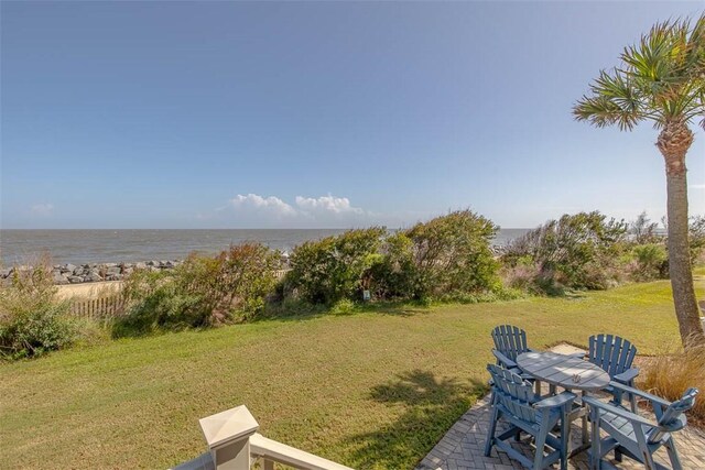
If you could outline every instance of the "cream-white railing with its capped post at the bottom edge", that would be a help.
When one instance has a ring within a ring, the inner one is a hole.
[[[199,420],[209,452],[173,470],[250,470],[261,460],[262,470],[282,463],[300,470],[352,470],[257,433],[259,424],[241,405]]]

